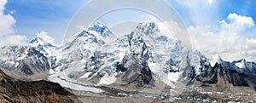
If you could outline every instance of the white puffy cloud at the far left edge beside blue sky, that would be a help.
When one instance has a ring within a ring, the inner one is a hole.
[[[7,0],[0,1],[0,47],[4,45],[24,44],[26,37],[15,35],[13,26],[15,18],[11,14],[4,14],[4,5]]]

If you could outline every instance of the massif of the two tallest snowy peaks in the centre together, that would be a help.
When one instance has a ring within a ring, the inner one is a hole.
[[[106,28],[97,23],[88,31],[82,31],[61,45],[59,50],[62,55],[57,63],[59,65],[52,68],[49,80],[61,79],[70,83],[93,85],[118,83],[143,86],[154,81],[154,77],[165,78],[161,79],[163,82],[169,81],[166,71],[170,70],[167,69],[176,67],[177,70],[178,65],[167,68],[167,64],[180,62],[180,43],[161,34],[154,22],[141,23],[130,34],[110,43],[104,42],[104,37],[109,35],[102,35],[104,32],[111,32]],[[166,63],[167,61],[169,62]]]

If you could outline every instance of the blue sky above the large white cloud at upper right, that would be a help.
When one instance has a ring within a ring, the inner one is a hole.
[[[180,0],[184,2],[188,2],[186,0]],[[254,7],[256,4],[256,1],[253,0],[212,0],[214,1],[212,4],[203,4],[204,0],[191,0],[193,1],[200,1],[195,2],[198,4],[191,3],[191,7],[194,8],[193,12],[200,12],[205,18],[209,18],[208,20],[211,20],[210,22],[204,22],[204,23],[216,23],[218,20],[225,20],[228,14],[230,13],[236,13],[241,14],[243,16],[250,16],[253,18],[253,20],[256,19],[256,8]],[[207,0],[206,0],[207,1]],[[190,3],[188,2],[188,3]],[[172,5],[174,9],[177,10],[179,14],[183,17],[184,20],[186,20],[186,23],[189,23],[187,25],[195,25],[193,22],[189,22],[189,6],[183,5],[183,3],[178,2],[178,0],[168,0],[168,3]],[[201,5],[203,4],[203,5]]]

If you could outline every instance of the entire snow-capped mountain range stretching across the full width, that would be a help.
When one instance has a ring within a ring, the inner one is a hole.
[[[94,88],[100,86],[152,89],[158,83],[173,89],[177,83],[256,89],[254,62],[228,62],[191,51],[163,34],[154,22],[140,23],[122,37],[96,23],[58,46],[40,37],[26,46],[5,46],[0,49],[0,67],[14,77],[47,78],[63,87],[95,93],[102,92]]]

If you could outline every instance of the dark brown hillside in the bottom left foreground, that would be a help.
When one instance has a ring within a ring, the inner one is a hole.
[[[27,103],[72,103],[79,102],[74,94],[63,89],[58,83],[45,80],[24,82],[9,77],[0,70],[0,102]]]

